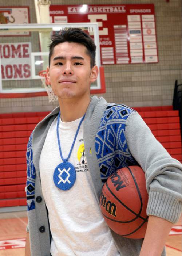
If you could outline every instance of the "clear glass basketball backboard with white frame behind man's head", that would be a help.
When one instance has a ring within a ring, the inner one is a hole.
[[[105,92],[104,71],[100,67],[99,30],[97,23],[0,25],[0,94],[45,92],[39,72],[48,66],[50,37],[62,28],[79,27],[89,34],[97,46],[98,79],[91,93]],[[40,94],[39,94],[40,95]],[[45,94],[46,95],[46,94]],[[2,98],[2,97],[1,97]]]

